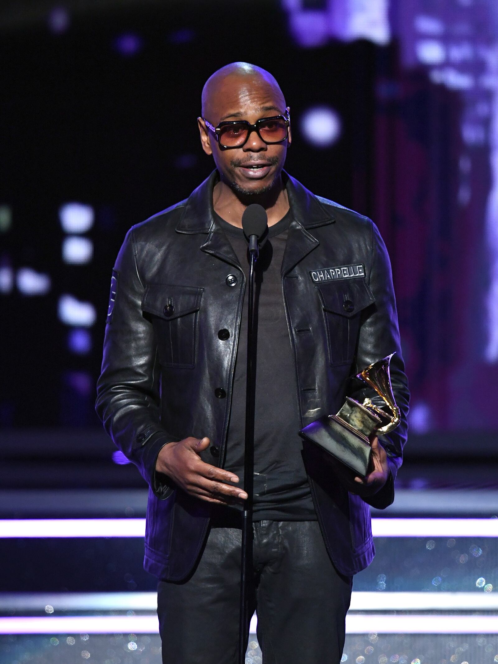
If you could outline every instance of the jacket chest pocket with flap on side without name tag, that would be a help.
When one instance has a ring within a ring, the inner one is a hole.
[[[149,284],[145,288],[142,311],[154,327],[163,367],[195,367],[203,290],[170,284]]]

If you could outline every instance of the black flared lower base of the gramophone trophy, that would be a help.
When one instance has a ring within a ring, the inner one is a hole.
[[[337,415],[325,415],[305,426],[299,434],[341,461],[359,477],[368,474],[372,451],[369,439]]]

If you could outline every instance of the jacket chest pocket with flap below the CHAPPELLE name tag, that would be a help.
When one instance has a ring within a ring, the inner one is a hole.
[[[331,365],[351,364],[355,357],[361,312],[375,298],[364,279],[345,279],[315,286],[323,308]]]

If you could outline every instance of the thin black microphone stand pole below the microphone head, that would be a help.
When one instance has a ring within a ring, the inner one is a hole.
[[[258,236],[249,238],[249,292],[246,376],[246,444],[244,450],[244,491],[247,499],[242,511],[242,564],[240,568],[240,627],[238,664],[246,661],[248,637],[248,599],[252,575],[252,505],[254,493],[254,398],[256,394],[256,319],[254,317],[254,268],[258,260]]]

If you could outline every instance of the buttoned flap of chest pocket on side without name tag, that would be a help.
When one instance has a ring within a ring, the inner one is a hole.
[[[149,284],[143,293],[142,309],[147,313],[153,313],[171,321],[187,313],[198,311],[203,290],[197,286]]]

